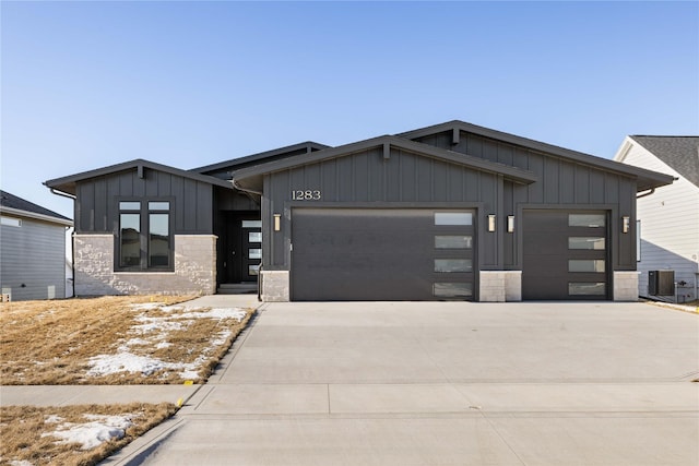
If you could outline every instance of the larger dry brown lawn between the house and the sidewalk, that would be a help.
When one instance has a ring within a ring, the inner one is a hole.
[[[203,382],[245,327],[242,321],[183,310],[191,297],[102,297],[0,304],[3,385]],[[163,306],[157,306],[161,302]],[[141,307],[134,304],[142,304]],[[95,369],[103,358],[121,371]],[[149,370],[129,366],[153,362]],[[114,361],[117,362],[114,362]]]

